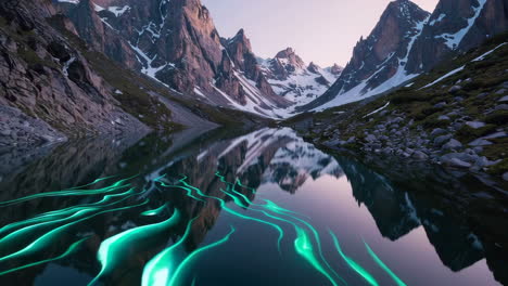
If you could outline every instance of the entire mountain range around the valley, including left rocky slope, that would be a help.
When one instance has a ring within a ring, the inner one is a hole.
[[[410,84],[507,30],[507,10],[441,0],[431,14],[396,0],[345,68],[321,68],[291,48],[259,58],[243,29],[220,37],[200,0],[5,0],[0,103],[16,110],[0,115],[41,119],[10,127],[40,131],[35,141],[288,118]]]

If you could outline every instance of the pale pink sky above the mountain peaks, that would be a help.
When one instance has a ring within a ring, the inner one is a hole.
[[[306,63],[344,66],[391,0],[202,0],[221,37],[244,28],[254,52],[272,57],[292,47]],[[414,0],[432,12],[437,0]]]

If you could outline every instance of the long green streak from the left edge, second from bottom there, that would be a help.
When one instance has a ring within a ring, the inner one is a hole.
[[[72,226],[72,225],[75,225],[79,222],[82,222],[85,220],[88,220],[88,219],[91,219],[91,218],[94,218],[99,214],[102,214],[102,213],[106,213],[106,212],[113,212],[113,211],[118,211],[118,210],[126,210],[126,209],[130,209],[130,208],[136,208],[136,207],[140,207],[140,206],[144,206],[149,203],[149,200],[144,200],[143,203],[141,204],[138,204],[138,205],[132,205],[132,206],[127,206],[127,207],[122,207],[122,208],[115,208],[115,209],[109,209],[109,210],[103,210],[103,211],[99,211],[97,213],[93,213],[91,216],[88,216],[88,217],[85,217],[85,218],[81,218],[81,219],[78,219],[76,221],[73,221],[73,222],[69,222],[67,224],[64,224],[62,226],[59,226],[46,234],[43,234],[42,236],[40,236],[39,238],[37,238],[36,240],[34,240],[31,244],[29,244],[28,246],[26,246],[25,248],[14,252],[14,253],[11,253],[9,256],[5,256],[5,257],[2,257],[0,258],[0,262],[2,261],[5,261],[5,260],[9,260],[9,259],[13,259],[13,258],[18,258],[18,257],[22,257],[22,256],[26,256],[26,255],[30,255],[30,253],[34,253],[34,252],[37,252],[37,251],[40,251],[40,250],[43,250],[47,246],[51,245],[51,242],[54,240],[60,234],[62,234],[67,227]],[[85,212],[89,212],[87,210],[85,210]]]

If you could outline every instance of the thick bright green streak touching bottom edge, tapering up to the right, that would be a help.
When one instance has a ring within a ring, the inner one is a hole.
[[[198,218],[189,221],[186,232],[181,238],[170,247],[161,251],[152,258],[143,269],[141,277],[142,286],[167,286],[169,283],[170,273],[178,268],[178,247],[183,244],[190,234],[192,223]]]

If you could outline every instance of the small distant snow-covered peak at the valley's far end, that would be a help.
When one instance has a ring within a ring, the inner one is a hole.
[[[325,93],[342,73],[336,64],[328,68],[313,62],[306,65],[292,48],[278,52],[274,58],[259,60],[259,64],[275,92],[294,103],[292,108]]]

